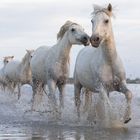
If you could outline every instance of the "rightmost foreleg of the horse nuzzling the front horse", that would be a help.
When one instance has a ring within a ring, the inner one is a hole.
[[[59,101],[60,101],[60,107],[64,108],[64,88],[65,85],[64,84],[59,84],[58,85],[58,89],[59,89]]]

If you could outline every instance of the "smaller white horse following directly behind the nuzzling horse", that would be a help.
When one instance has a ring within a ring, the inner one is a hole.
[[[20,98],[20,86],[23,84],[31,84],[32,75],[30,68],[30,60],[33,56],[34,50],[26,50],[27,53],[22,61],[11,61],[4,69],[4,74],[9,84],[13,86],[13,90],[18,87],[18,99]],[[12,91],[13,92],[13,91]]]

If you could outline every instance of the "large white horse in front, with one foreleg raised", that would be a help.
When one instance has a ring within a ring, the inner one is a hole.
[[[90,41],[96,49],[86,47],[79,52],[74,72],[75,104],[78,116],[80,117],[81,88],[86,87],[90,91],[96,92],[103,84],[107,93],[118,91],[125,95],[127,109],[124,123],[127,123],[131,120],[132,93],[127,88],[125,70],[115,47],[111,25],[111,4],[107,8],[95,5],[92,16]]]

